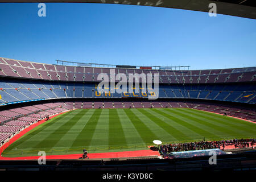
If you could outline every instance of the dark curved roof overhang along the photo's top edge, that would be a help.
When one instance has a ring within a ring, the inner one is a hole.
[[[169,7],[193,11],[209,12],[210,3],[216,3],[217,14],[240,16],[256,19],[255,0],[0,0],[0,2],[87,2],[87,3],[113,3],[124,5],[140,5]]]

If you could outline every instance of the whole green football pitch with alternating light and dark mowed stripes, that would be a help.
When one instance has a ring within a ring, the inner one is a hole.
[[[181,108],[77,109],[35,127],[2,156],[145,150],[163,143],[255,138],[256,125],[241,119]]]

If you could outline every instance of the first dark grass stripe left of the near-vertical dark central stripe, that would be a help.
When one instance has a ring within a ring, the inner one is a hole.
[[[94,131],[96,129],[98,119],[100,118],[102,109],[95,109],[92,117],[86,123],[80,134],[76,137],[72,147],[90,146]]]

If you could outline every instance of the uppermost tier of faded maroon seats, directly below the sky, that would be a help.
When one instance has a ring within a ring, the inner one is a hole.
[[[0,76],[35,78],[55,81],[99,81],[100,73],[110,74],[110,68],[71,67],[0,57]],[[218,82],[245,82],[256,80],[256,68],[212,69],[193,71],[163,71],[153,69],[114,68],[115,73],[159,73],[160,83],[197,84]],[[1,88],[1,86],[0,86]]]

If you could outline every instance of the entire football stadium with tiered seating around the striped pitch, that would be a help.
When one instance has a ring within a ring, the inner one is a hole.
[[[158,64],[0,57],[0,168],[39,169],[43,154],[49,169],[216,169],[215,152],[218,168],[255,169],[256,67]]]

